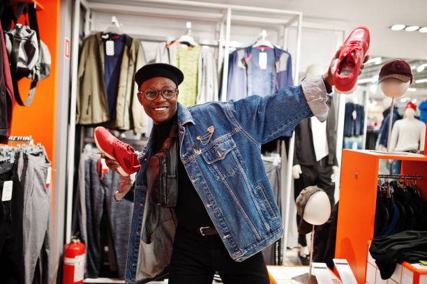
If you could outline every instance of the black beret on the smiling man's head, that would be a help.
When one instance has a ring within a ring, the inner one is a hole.
[[[153,77],[166,77],[174,81],[177,87],[183,81],[183,73],[177,67],[167,63],[149,63],[137,70],[135,73],[135,82],[138,88],[142,82]]]

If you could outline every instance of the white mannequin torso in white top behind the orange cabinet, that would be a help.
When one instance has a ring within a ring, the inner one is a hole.
[[[424,150],[426,124],[415,118],[412,107],[407,107],[404,117],[391,130],[390,151]]]

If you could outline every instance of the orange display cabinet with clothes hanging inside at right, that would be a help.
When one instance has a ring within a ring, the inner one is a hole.
[[[401,174],[420,176],[417,186],[427,200],[427,156],[343,150],[335,257],[347,259],[359,284],[365,283],[366,244],[373,239],[380,159],[402,160]]]

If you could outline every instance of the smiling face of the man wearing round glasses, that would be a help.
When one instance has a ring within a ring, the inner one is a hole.
[[[154,87],[160,91],[165,86],[177,88],[174,81],[169,78],[153,77],[142,82],[140,91],[145,91],[149,87]],[[163,98],[159,93],[155,100],[148,100],[143,94],[138,93],[138,100],[140,100],[142,107],[144,107],[145,113],[153,119],[153,124],[163,124],[174,117],[178,108],[177,98],[178,93],[169,100]]]

